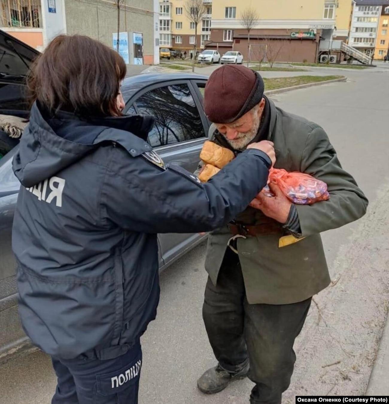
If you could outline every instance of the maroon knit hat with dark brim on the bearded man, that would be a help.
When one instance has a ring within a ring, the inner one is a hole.
[[[236,121],[259,104],[264,90],[262,77],[248,67],[219,67],[205,86],[205,114],[211,122],[219,124]]]

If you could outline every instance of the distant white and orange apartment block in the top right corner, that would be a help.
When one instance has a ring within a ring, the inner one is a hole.
[[[383,59],[388,49],[389,0],[355,0],[349,45]]]

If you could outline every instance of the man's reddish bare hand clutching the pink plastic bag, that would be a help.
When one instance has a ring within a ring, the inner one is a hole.
[[[282,224],[285,224],[288,220],[290,206],[292,202],[281,191],[278,185],[269,183],[271,192],[274,197],[266,196],[262,190],[255,199],[250,202],[250,206],[253,208],[262,210],[263,214],[267,217],[271,217]]]

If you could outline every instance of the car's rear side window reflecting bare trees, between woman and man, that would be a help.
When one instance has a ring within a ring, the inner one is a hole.
[[[140,114],[155,117],[149,133],[153,147],[205,137],[200,113],[187,84],[151,90],[136,100]]]

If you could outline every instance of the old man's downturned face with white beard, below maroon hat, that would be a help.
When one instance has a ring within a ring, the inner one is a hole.
[[[249,112],[230,124],[216,124],[219,132],[235,150],[244,149],[257,135],[265,99]]]

